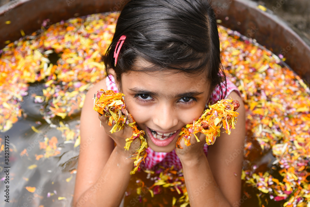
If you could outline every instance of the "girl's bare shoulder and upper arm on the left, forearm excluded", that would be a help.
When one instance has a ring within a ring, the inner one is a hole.
[[[81,112],[81,143],[73,203],[96,182],[114,148],[113,139],[105,133],[98,113],[93,110],[94,94],[100,89],[107,90],[105,78],[88,90]]]

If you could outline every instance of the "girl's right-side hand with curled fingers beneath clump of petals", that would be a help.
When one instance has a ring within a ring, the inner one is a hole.
[[[180,161],[188,161],[193,159],[199,159],[201,155],[204,155],[203,145],[206,144],[206,135],[202,133],[197,133],[196,136],[200,140],[197,142],[197,139],[194,134],[190,138],[191,145],[186,146],[184,139],[180,141],[180,145],[183,149],[175,148],[175,153],[179,156]]]

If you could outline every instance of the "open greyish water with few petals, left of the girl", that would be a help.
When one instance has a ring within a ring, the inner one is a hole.
[[[29,87],[30,90],[31,86]],[[25,100],[27,100],[26,97]],[[27,117],[20,118],[13,128],[7,132],[0,133],[2,139],[9,136],[11,150],[10,164],[8,165],[11,166],[9,175],[10,203],[1,199],[1,206],[37,207],[43,205],[56,207],[72,205],[79,146],[74,147],[74,142],[64,143],[61,131],[52,128],[42,119],[39,112],[40,106],[41,104],[34,103],[31,98],[25,101],[22,108]],[[60,121],[63,121],[74,129],[79,125],[79,115],[79,113],[73,115],[72,119],[55,119],[53,123],[58,125]],[[41,121],[42,125],[36,124],[37,121]],[[35,126],[40,133],[34,132],[31,126]],[[44,142],[46,138],[54,136],[59,140],[57,148],[60,154],[36,160],[36,155],[45,152],[44,149],[40,149],[39,142]],[[28,156],[20,154],[24,149],[26,149]],[[3,154],[1,152],[1,166],[4,164]],[[37,167],[29,169],[29,166],[34,165]],[[4,172],[2,171],[0,177],[3,176]],[[29,192],[26,187],[36,187],[36,189],[34,192]],[[4,189],[5,185],[1,182],[1,194]],[[59,197],[65,197],[65,199],[59,200]]]

